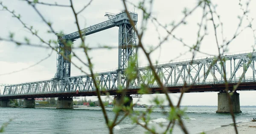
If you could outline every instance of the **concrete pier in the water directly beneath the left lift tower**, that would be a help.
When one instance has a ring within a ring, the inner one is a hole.
[[[57,109],[72,109],[73,99],[72,97],[59,97],[57,100]]]

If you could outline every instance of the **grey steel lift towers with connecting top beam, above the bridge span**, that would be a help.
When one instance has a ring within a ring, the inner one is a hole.
[[[128,13],[136,25],[138,14],[134,12]],[[115,26],[119,27],[117,83],[118,85],[122,85],[125,83],[125,73],[123,71],[129,66],[129,61],[132,57],[135,57],[135,54],[137,53],[136,33],[125,11],[117,14],[106,12],[105,16],[108,17],[107,21],[82,29],[81,35],[87,36]],[[74,42],[79,38],[81,38],[79,31],[58,36],[59,50],[57,53],[57,73],[55,74],[55,78],[61,80],[62,83],[65,82],[65,78],[70,77],[70,61],[67,59],[70,57],[71,47],[67,46],[67,44],[70,43],[64,42]],[[137,65],[136,60],[136,66]]]

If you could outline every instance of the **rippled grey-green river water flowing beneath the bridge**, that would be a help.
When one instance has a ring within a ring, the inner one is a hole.
[[[110,119],[115,116],[112,108],[107,108]],[[232,123],[230,114],[215,113],[217,107],[189,107],[183,121],[189,133],[196,134]],[[166,109],[168,110],[168,109]],[[145,111],[145,108],[134,108],[134,111]],[[242,113],[235,114],[236,122],[248,122],[256,117],[256,108],[243,108]],[[123,115],[124,113],[121,113]],[[3,134],[108,134],[105,119],[100,108],[81,107],[74,109],[55,108],[0,108],[0,124],[12,119]],[[154,109],[151,114],[151,126],[157,131],[167,125],[167,117],[161,109]],[[144,134],[145,129],[132,124],[129,118],[114,128],[115,134]],[[175,126],[173,134],[183,134]]]

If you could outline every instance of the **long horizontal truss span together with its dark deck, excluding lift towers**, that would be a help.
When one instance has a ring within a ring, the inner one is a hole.
[[[223,56],[223,68],[220,60],[216,58],[195,59],[193,61],[180,61],[168,64],[155,65],[155,71],[169,92],[180,92],[180,88],[186,83],[191,86],[188,92],[221,91],[225,89],[223,70],[226,70],[228,87],[233,89],[242,73],[241,84],[238,90],[256,89],[256,53],[244,53]],[[216,61],[216,62],[215,62]],[[214,63],[214,64],[213,64]],[[122,70],[125,72],[125,70]],[[246,76],[249,77],[246,77]],[[96,79],[100,85],[102,94],[109,92],[111,95],[118,94],[118,70],[97,73]],[[64,83],[63,83],[64,82]],[[157,81],[152,76],[149,67],[138,67],[137,78],[126,87],[126,79],[122,81],[122,87],[128,89],[128,94],[137,94],[141,85],[145,84],[151,89],[151,93],[161,93]],[[78,92],[76,92],[78,90]],[[60,96],[94,96],[96,95],[92,77],[79,75],[64,79],[49,79],[23,84],[5,86],[0,98],[31,98],[36,97],[60,97]]]

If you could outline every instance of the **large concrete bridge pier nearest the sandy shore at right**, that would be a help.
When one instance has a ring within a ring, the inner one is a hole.
[[[234,92],[231,96],[231,101],[233,102],[233,112],[241,113],[239,93]],[[229,101],[226,92],[218,93],[218,110],[216,113],[230,113]]]

